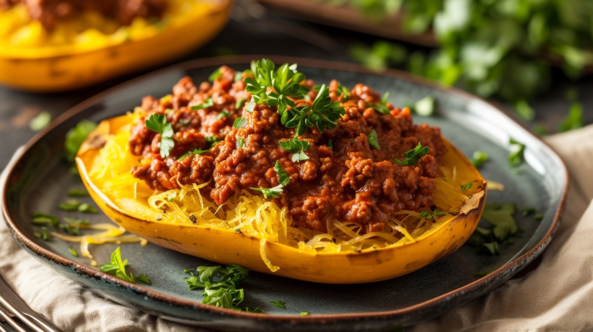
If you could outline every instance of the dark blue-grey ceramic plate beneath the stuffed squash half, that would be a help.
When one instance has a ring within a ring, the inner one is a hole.
[[[250,273],[244,283],[245,304],[259,307],[267,314],[248,314],[203,305],[199,291],[187,289],[183,269],[213,264],[199,258],[149,244],[122,244],[122,256],[129,258],[136,273],[151,277],[152,285],[133,285],[92,267],[87,258],[73,257],[71,244],[54,239],[42,241],[33,236],[31,212],[43,211],[59,216],[56,205],[66,198],[66,191],[82,188],[81,181],[68,172],[60,157],[66,131],[82,119],[100,121],[130,111],[145,95],[162,96],[184,75],[205,81],[220,65],[248,68],[255,56],[215,58],[181,63],[133,79],[103,92],[66,111],[52,126],[27,144],[23,154],[15,156],[4,186],[2,209],[9,229],[31,255],[75,279],[98,295],[154,313],[174,321],[203,325],[222,330],[385,330],[412,325],[441,315],[449,309],[483,295],[527,266],[544,250],[557,228],[568,183],[560,158],[540,139],[515,123],[502,111],[473,95],[445,89],[396,71],[373,74],[356,65],[308,59],[272,57],[276,63],[298,63],[300,71],[316,82],[339,79],[352,87],[358,82],[377,91],[391,92],[396,106],[413,103],[432,95],[438,114],[419,117],[416,122],[440,126],[442,133],[466,155],[480,150],[490,160],[480,171],[487,180],[497,181],[505,191],[488,193],[488,202],[511,202],[534,207],[543,214],[541,221],[516,214],[524,231],[498,256],[484,256],[464,245],[460,250],[423,269],[384,282],[362,285],[321,285],[262,273]],[[525,143],[525,163],[517,174],[507,161],[509,138]],[[90,197],[81,200],[94,204]],[[106,222],[102,213],[84,215],[91,223]],[[91,253],[99,263],[107,263],[115,244],[93,245]],[[493,271],[482,279],[477,272]],[[286,301],[286,309],[270,301]],[[300,316],[301,311],[310,315]]]

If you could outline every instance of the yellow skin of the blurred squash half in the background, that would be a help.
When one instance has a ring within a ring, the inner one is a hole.
[[[35,92],[68,91],[148,68],[207,43],[227,23],[231,7],[232,1],[224,0],[154,36],[95,50],[0,50],[0,83]]]

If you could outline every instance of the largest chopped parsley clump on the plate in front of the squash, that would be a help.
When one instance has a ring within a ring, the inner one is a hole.
[[[184,270],[191,277],[184,278],[190,290],[203,289],[202,295],[205,298],[203,304],[215,305],[228,309],[238,309],[243,302],[243,289],[237,289],[237,286],[245,280],[248,269],[231,264],[226,267],[221,266],[198,266],[196,273],[192,270]],[[245,309],[248,312],[262,312],[258,308]]]

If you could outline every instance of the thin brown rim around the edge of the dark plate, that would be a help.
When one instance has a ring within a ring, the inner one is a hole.
[[[439,90],[441,92],[445,92],[446,94],[454,94],[458,95],[465,99],[470,100],[477,100],[488,106],[492,107],[493,109],[497,110],[503,117],[506,117],[507,120],[521,126],[524,130],[526,130],[532,138],[542,143],[549,149],[551,157],[554,157],[559,162],[561,166],[560,172],[564,175],[563,180],[565,181],[564,186],[562,188],[562,194],[559,197],[559,206],[556,209],[556,213],[553,217],[552,224],[550,228],[547,230],[546,235],[537,243],[535,244],[530,250],[526,251],[521,256],[515,258],[514,260],[506,263],[505,265],[499,267],[492,273],[489,273],[487,276],[484,276],[480,279],[477,279],[471,283],[467,283],[460,288],[451,290],[447,293],[443,293],[439,296],[435,296],[434,298],[428,299],[426,301],[420,302],[418,304],[410,305],[409,307],[388,310],[388,311],[378,311],[378,312],[350,312],[350,313],[340,313],[340,314],[313,314],[313,315],[287,315],[287,314],[270,314],[270,315],[262,315],[262,314],[254,314],[250,312],[242,312],[233,309],[227,308],[220,308],[215,307],[213,305],[202,304],[199,301],[192,301],[189,299],[181,299],[177,298],[173,295],[168,295],[165,293],[158,292],[156,290],[147,288],[145,286],[137,285],[134,283],[127,282],[125,280],[119,279],[115,276],[111,276],[111,274],[100,272],[100,270],[90,267],[76,261],[70,260],[67,257],[60,256],[53,251],[50,251],[42,246],[36,244],[33,240],[28,238],[20,231],[17,226],[17,223],[12,220],[12,217],[8,213],[8,202],[7,202],[7,194],[8,194],[8,183],[9,179],[14,177],[15,170],[17,165],[19,165],[23,159],[23,157],[27,154],[27,152],[39,141],[42,141],[44,136],[47,133],[51,132],[55,127],[60,125],[61,123],[65,122],[66,120],[70,119],[71,117],[75,116],[76,114],[81,113],[89,106],[97,103],[100,100],[104,100],[105,97],[108,97],[113,92],[118,90],[122,90],[122,88],[130,87],[133,85],[141,84],[142,81],[146,81],[155,76],[159,76],[164,74],[165,72],[175,71],[175,70],[190,70],[196,68],[203,68],[207,66],[221,66],[221,65],[232,65],[232,64],[246,64],[250,63],[253,59],[262,59],[267,58],[271,59],[274,62],[280,63],[298,63],[298,65],[310,68],[318,68],[318,69],[330,69],[334,71],[345,71],[345,72],[353,72],[355,74],[371,74],[371,75],[380,75],[386,76],[388,78],[396,78],[401,79],[403,81],[412,82],[418,85],[423,85],[428,88],[432,88],[434,90]],[[18,155],[17,155],[18,154]],[[2,184],[1,189],[1,207],[2,207],[2,215],[4,216],[5,223],[8,226],[9,231],[11,231],[15,240],[20,242],[21,245],[27,247],[29,250],[33,251],[37,255],[48,258],[53,263],[57,263],[62,266],[72,267],[78,270],[81,273],[86,274],[87,277],[91,277],[93,279],[107,279],[110,282],[119,284],[125,288],[131,289],[136,293],[139,293],[144,296],[149,296],[150,298],[154,299],[158,302],[164,302],[166,304],[173,304],[179,305],[182,307],[190,307],[193,309],[197,309],[198,311],[207,312],[209,314],[217,314],[217,315],[225,315],[228,317],[238,318],[238,319],[248,319],[248,320],[256,320],[256,321],[269,321],[270,323],[334,323],[338,321],[349,321],[349,320],[369,320],[369,319],[380,319],[380,320],[388,320],[398,317],[403,317],[405,315],[411,314],[412,312],[416,311],[423,311],[428,310],[431,308],[439,307],[439,305],[444,304],[445,302],[452,301],[453,299],[457,298],[458,296],[463,295],[464,293],[476,292],[480,288],[486,288],[486,286],[492,282],[493,280],[499,279],[500,276],[503,276],[505,273],[509,272],[512,274],[517,273],[519,270],[516,269],[519,263],[523,261],[533,261],[537,256],[539,256],[543,249],[549,244],[551,238],[553,237],[554,233],[558,229],[560,217],[562,216],[563,210],[565,208],[566,202],[566,194],[568,193],[568,184],[569,184],[569,175],[568,170],[566,168],[565,163],[563,162],[562,158],[557,155],[556,151],[554,151],[548,143],[543,141],[540,137],[535,135],[531,129],[527,126],[523,125],[522,123],[517,122],[517,120],[513,119],[509,114],[502,109],[502,107],[498,106],[495,103],[490,101],[484,100],[483,98],[477,97],[476,95],[471,94],[470,92],[466,92],[454,87],[445,87],[444,85],[438,84],[436,82],[428,81],[427,79],[421,78],[419,76],[410,74],[408,72],[399,71],[397,69],[386,69],[384,72],[374,72],[369,69],[362,67],[361,65],[357,65],[356,63],[349,63],[349,62],[339,62],[339,61],[332,61],[332,60],[322,60],[322,59],[313,59],[313,58],[299,58],[299,57],[292,57],[292,56],[275,56],[275,55],[237,55],[237,56],[216,56],[211,58],[201,58],[201,59],[194,59],[194,60],[187,60],[184,62],[175,63],[170,66],[166,66],[161,69],[157,69],[155,71],[148,72],[147,74],[138,76],[136,78],[132,78],[128,81],[122,82],[120,84],[114,85],[114,87],[108,88],[98,94],[93,95],[90,98],[87,98],[81,103],[76,104],[75,106],[69,108],[60,116],[56,117],[55,120],[50,123],[42,131],[38,132],[33,138],[30,139],[24,146],[21,151],[15,153],[12,157],[14,162],[10,162],[7,165],[7,177],[4,184]],[[25,250],[26,251],[26,250]],[[525,264],[526,267],[527,264]],[[502,285],[502,283],[508,281],[508,279],[504,279],[503,282],[497,283],[496,286]],[[471,300],[470,300],[471,301]],[[468,302],[468,301],[466,301]],[[463,302],[463,303],[466,303]],[[140,311],[146,312],[145,309],[139,307],[138,305],[134,306],[136,309]],[[161,312],[162,314],[170,315],[165,312]],[[443,314],[444,312],[439,312]],[[196,320],[196,322],[199,322]]]

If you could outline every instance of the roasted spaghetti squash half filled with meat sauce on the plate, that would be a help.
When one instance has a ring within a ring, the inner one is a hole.
[[[281,69],[269,75],[282,78]],[[346,97],[335,81],[317,88],[292,76],[310,97],[289,96],[289,116],[308,117],[323,98],[337,113],[344,108],[335,125],[320,130],[313,118],[299,135],[279,115],[282,106],[256,102],[248,88],[261,76],[256,65],[218,71],[212,85],[184,78],[173,95],[145,98],[133,113],[104,120],[81,146],[76,165],[85,186],[127,231],[222,264],[362,283],[445,257],[476,228],[486,181],[438,129],[412,125],[407,108],[377,101],[362,85]],[[263,98],[276,91],[283,87]],[[398,127],[380,127],[391,117]],[[151,123],[157,118],[160,133]]]

